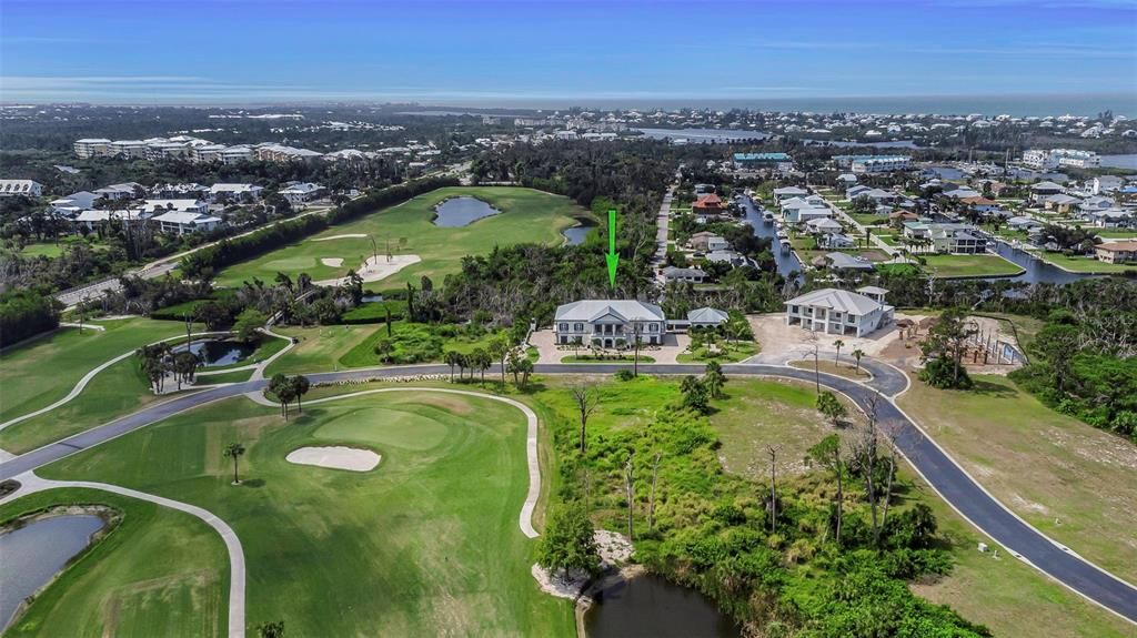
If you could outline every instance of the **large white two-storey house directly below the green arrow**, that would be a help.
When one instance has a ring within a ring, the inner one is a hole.
[[[599,347],[659,345],[667,320],[658,305],[634,300],[582,300],[557,307],[553,330],[556,343]],[[579,339],[579,341],[578,341]]]

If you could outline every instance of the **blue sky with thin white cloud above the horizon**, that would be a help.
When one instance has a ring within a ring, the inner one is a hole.
[[[0,100],[1137,94],[1137,0],[2,0]]]

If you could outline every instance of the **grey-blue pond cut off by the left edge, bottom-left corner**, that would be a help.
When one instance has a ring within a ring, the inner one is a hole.
[[[0,622],[7,627],[19,604],[43,587],[102,529],[93,514],[66,514],[0,534]]]

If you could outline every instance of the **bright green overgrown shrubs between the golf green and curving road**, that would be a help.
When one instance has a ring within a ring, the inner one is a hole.
[[[832,436],[811,451],[814,471],[754,482],[723,470],[716,434],[700,413],[704,401],[715,408],[709,388],[729,397],[730,383],[713,375],[689,377],[680,392],[641,388],[637,396],[648,398],[617,410],[649,420],[594,420],[587,446],[576,402],[550,410],[558,500],[583,503],[604,527],[630,534],[648,570],[699,589],[747,635],[990,635],[908,590],[906,581],[946,573],[951,561],[931,511],[901,505],[896,494],[906,487],[895,452],[871,419],[855,443]]]

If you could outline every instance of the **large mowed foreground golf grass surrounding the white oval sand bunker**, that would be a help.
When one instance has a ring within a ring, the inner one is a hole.
[[[238,487],[222,455],[233,440],[248,448]],[[358,473],[284,460],[306,445],[367,447],[382,462]],[[297,636],[574,636],[572,604],[529,572],[534,543],[517,524],[525,419],[498,402],[384,393],[309,404],[284,422],[233,400],[42,473],[160,494],[229,522],[248,563],[250,631],[283,620]]]

